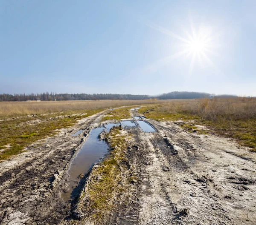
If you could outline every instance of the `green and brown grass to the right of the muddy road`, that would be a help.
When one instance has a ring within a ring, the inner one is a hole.
[[[158,121],[186,121],[180,126],[188,132],[196,130],[199,134],[207,134],[195,126],[203,125],[256,151],[256,99],[175,100],[143,107],[139,112]]]

